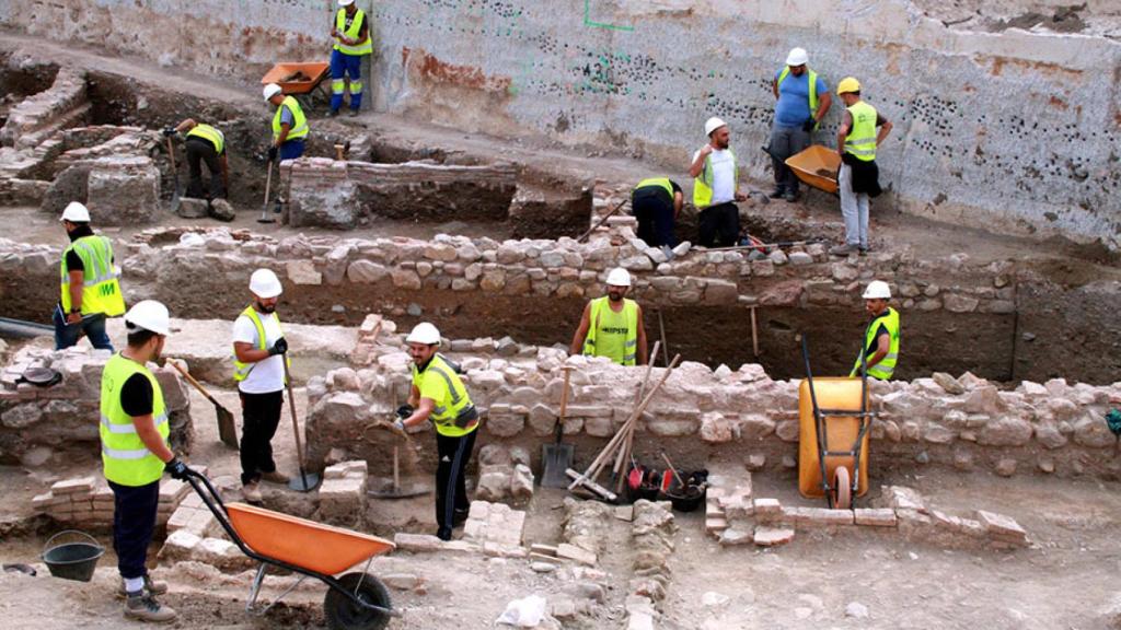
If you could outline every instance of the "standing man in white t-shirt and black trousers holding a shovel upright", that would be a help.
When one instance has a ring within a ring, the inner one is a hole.
[[[288,342],[276,313],[284,293],[277,275],[271,269],[253,271],[249,293],[252,303],[233,323],[233,380],[243,417],[241,493],[247,501],[259,503],[262,480],[288,483],[288,476],[277,471],[272,458],[272,436],[284,408]]]

